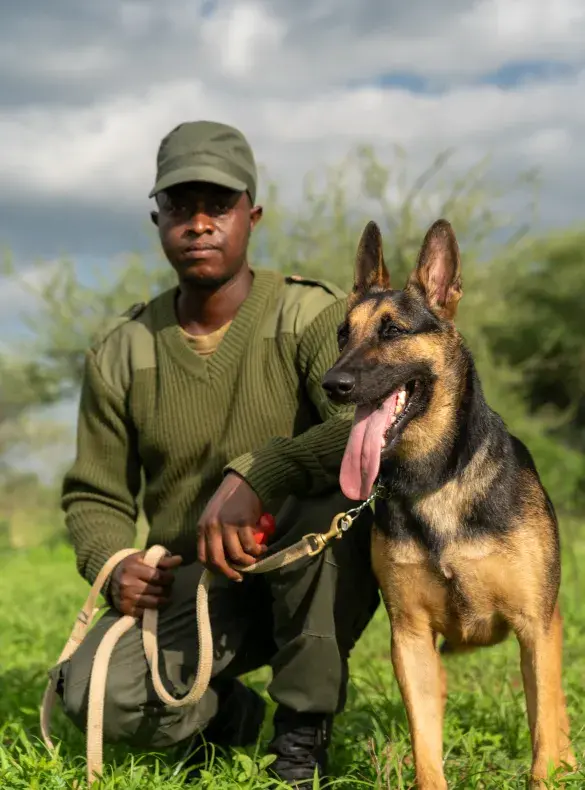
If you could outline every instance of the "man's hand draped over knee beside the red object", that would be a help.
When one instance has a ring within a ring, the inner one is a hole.
[[[248,483],[233,472],[207,503],[198,524],[197,555],[211,571],[242,581],[242,574],[230,563],[254,565],[266,551],[254,539],[254,529],[262,515],[262,503]]]

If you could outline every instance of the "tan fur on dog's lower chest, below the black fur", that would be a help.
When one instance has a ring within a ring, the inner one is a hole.
[[[523,627],[526,612],[542,610],[545,558],[529,530],[518,530],[524,534],[512,540],[453,541],[438,558],[414,539],[375,531],[372,562],[391,620],[430,623],[453,643],[469,645],[495,644],[507,626]]]

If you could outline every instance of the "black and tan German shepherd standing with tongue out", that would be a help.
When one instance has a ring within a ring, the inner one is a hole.
[[[462,296],[451,225],[435,222],[403,290],[393,290],[378,226],[366,226],[323,387],[356,405],[340,471],[350,499],[380,478],[372,563],[390,617],[392,664],[419,790],[445,790],[442,729],[450,652],[513,631],[532,740],[532,786],[575,765],[561,683],[559,532],[528,449],[487,405],[454,326]]]

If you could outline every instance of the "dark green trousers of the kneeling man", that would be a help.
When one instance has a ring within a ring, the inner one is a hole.
[[[307,532],[325,532],[333,517],[354,506],[339,492],[286,501],[277,516],[277,546]],[[209,591],[214,662],[212,681],[195,706],[169,708],[152,687],[140,629],[116,646],[109,668],[104,737],[143,748],[166,748],[201,731],[217,713],[216,679],[272,667],[268,692],[297,711],[337,713],[343,709],[348,657],[379,602],[370,565],[372,512],[366,508],[341,540],[316,558],[235,583],[216,577]],[[282,537],[280,537],[282,536]],[[183,695],[197,667],[195,593],[199,563],[176,571],[171,604],[159,616],[160,671],[169,691]],[[94,655],[120,617],[105,612],[69,661],[52,672],[68,717],[85,728]]]

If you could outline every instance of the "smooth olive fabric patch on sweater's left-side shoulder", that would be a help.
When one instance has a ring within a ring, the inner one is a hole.
[[[92,343],[96,362],[108,386],[125,395],[137,370],[154,368],[154,333],[150,311],[138,302],[107,321]]]

